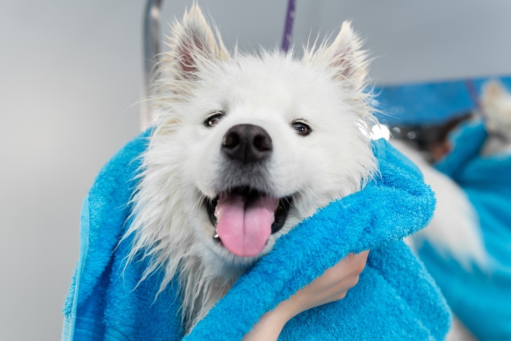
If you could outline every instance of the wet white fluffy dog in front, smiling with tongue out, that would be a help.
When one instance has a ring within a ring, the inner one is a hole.
[[[234,49],[193,5],[161,55],[128,261],[178,274],[189,332],[275,240],[377,172],[367,56],[350,22],[293,52]]]

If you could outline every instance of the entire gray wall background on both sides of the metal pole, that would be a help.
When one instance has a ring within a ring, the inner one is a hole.
[[[199,3],[228,47],[280,43],[285,0]],[[184,7],[169,0],[164,19]],[[139,130],[143,8],[142,0],[0,2],[2,340],[60,337],[82,198]],[[380,84],[511,74],[511,2],[298,0],[294,42],[344,19],[366,38]]]

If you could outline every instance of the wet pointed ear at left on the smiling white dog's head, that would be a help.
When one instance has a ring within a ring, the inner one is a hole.
[[[218,30],[216,35],[218,44],[199,6],[193,4],[190,11],[185,11],[182,21],[172,26],[172,36],[167,43],[170,52],[164,55],[162,63],[170,64],[177,78],[195,79],[204,61],[229,58]]]

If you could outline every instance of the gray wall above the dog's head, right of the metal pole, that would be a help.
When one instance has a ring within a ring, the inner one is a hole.
[[[168,1],[165,16],[182,15],[184,3]],[[245,49],[280,45],[286,0],[205,3],[227,47],[237,38]],[[296,9],[298,47],[309,34],[323,38],[352,20],[381,84],[511,74],[511,2],[297,0]]]

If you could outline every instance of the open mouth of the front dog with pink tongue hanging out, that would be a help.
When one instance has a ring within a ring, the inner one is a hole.
[[[214,239],[237,256],[257,256],[269,236],[284,226],[291,201],[290,196],[276,198],[249,187],[220,193],[206,202]]]

